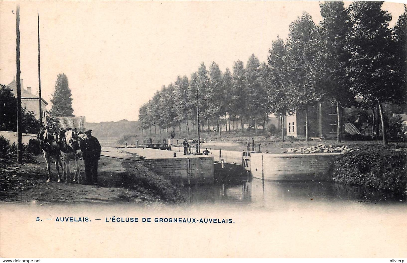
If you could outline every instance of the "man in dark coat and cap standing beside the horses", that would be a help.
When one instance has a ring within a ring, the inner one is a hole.
[[[92,130],[85,131],[87,139],[82,142],[82,157],[85,161],[85,174],[87,184],[98,183],[98,160],[101,156],[101,145],[98,139],[92,136]]]

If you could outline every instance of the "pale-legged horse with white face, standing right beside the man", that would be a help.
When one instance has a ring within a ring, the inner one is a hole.
[[[66,128],[59,131],[59,150],[61,151],[63,159],[63,177],[65,182],[68,182],[70,177],[69,163],[73,159],[75,161],[75,175],[73,182],[81,183],[83,181],[81,172],[79,170],[79,157],[81,156],[80,142],[84,136],[78,136],[78,134],[72,130],[72,128]]]

